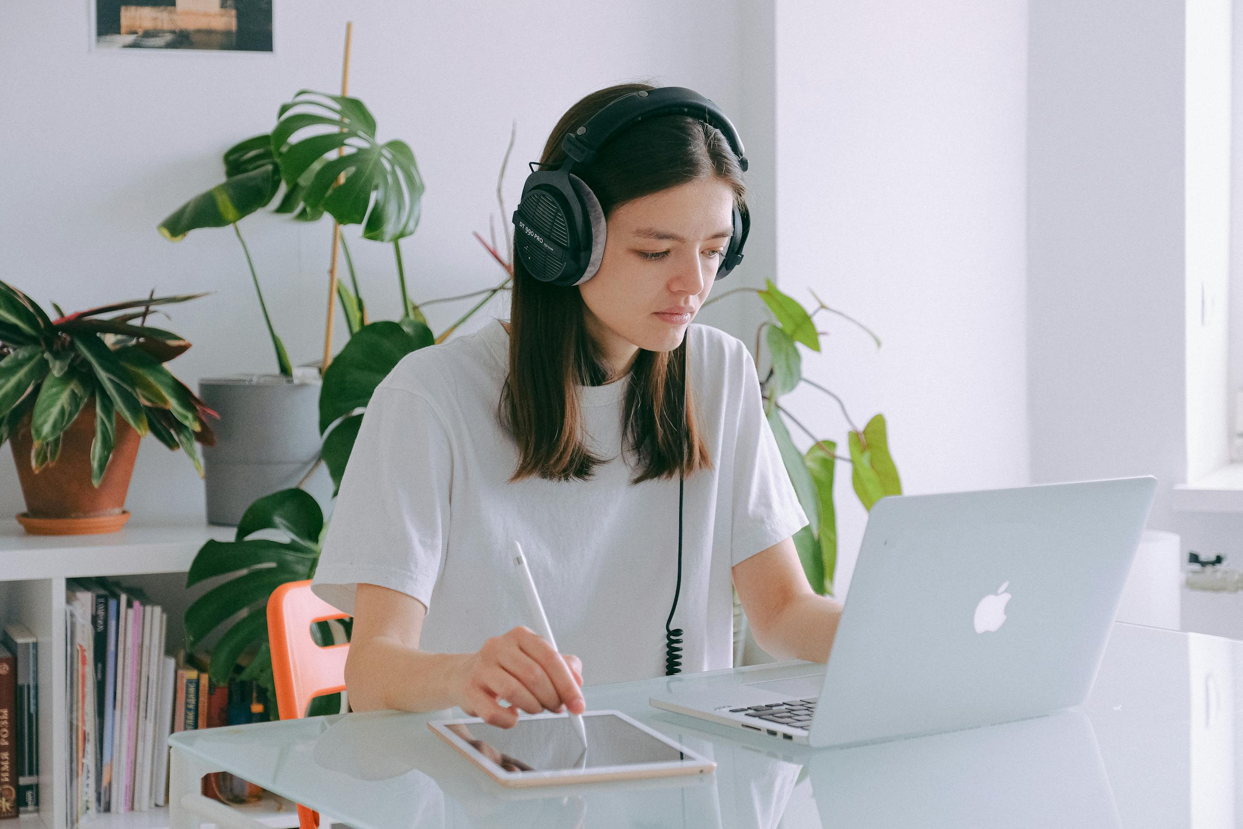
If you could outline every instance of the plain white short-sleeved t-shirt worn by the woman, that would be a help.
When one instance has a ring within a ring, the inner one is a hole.
[[[686,477],[682,582],[672,628],[682,671],[732,665],[730,568],[808,523],[763,415],[746,346],[687,327],[695,415],[712,469]],[[479,650],[527,614],[522,544],[562,653],[590,685],[665,674],[677,577],[677,479],[631,485],[619,455],[629,375],[579,387],[588,445],[612,459],[588,481],[508,479],[517,446],[497,418],[508,332],[404,357],[377,387],[341,482],[312,589],[346,613],[358,583],[428,607],[419,648]]]

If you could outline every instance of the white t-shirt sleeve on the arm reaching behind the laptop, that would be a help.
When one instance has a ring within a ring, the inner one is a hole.
[[[798,502],[794,485],[782,462],[777,439],[764,418],[759,378],[745,346],[741,368],[738,424],[733,449],[733,521],[730,534],[730,564],[768,549],[789,538],[809,522]]]

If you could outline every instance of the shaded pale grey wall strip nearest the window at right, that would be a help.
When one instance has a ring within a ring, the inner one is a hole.
[[[1187,471],[1185,9],[1029,17],[1028,378],[1035,482]]]

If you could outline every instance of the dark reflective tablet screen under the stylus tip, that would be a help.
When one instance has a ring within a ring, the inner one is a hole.
[[[486,722],[445,728],[507,772],[559,772],[685,759],[679,749],[612,713],[584,716],[583,726],[585,751],[569,717],[522,718],[512,728]]]

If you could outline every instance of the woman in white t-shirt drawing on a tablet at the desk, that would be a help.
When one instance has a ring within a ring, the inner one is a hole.
[[[542,167],[653,88],[579,101]],[[613,129],[574,155],[598,199],[594,273],[554,285],[523,251],[511,319],[409,354],[367,408],[313,582],[354,615],[355,711],[456,705],[511,727],[520,710],[580,713],[584,672],[730,667],[731,582],[761,646],[828,659],[840,604],[799,566],[807,516],[752,358],[691,323],[746,209],[745,168],[697,117]],[[530,629],[513,541],[564,654]]]

